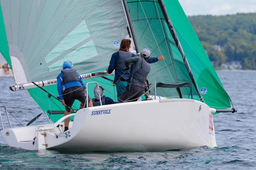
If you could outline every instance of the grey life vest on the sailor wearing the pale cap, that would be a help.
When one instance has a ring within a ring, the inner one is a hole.
[[[138,63],[140,61],[141,61],[141,66],[139,68]],[[143,57],[141,57],[134,66],[134,71],[131,76],[131,83],[133,78],[141,83],[145,83],[149,72],[150,72],[150,64],[146,62],[146,60]]]

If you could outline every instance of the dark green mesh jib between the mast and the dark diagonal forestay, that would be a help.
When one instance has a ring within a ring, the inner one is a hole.
[[[154,81],[177,84],[192,82],[176,44],[171,36],[158,1],[127,0],[132,25],[140,50],[149,48],[150,57],[164,55],[164,61],[151,64],[149,83]],[[191,98],[190,88],[180,88],[183,98]],[[156,94],[168,98],[179,98],[176,88],[157,88]],[[199,100],[192,85],[193,99]]]

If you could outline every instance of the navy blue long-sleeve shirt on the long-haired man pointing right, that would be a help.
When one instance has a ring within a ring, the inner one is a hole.
[[[136,57],[138,55],[132,54],[132,57]],[[115,64],[117,62],[119,58],[118,55],[118,51],[113,53],[109,62],[109,66],[108,66],[108,73],[111,74],[114,70],[115,70]],[[158,58],[149,58],[148,60],[146,60],[149,64],[151,63],[156,63],[158,61]],[[124,75],[123,75],[124,74]],[[115,70],[115,78],[114,78],[114,83],[118,81],[118,79],[123,75],[124,78],[129,78],[129,74],[130,74],[130,70],[127,70],[124,73],[124,70]]]

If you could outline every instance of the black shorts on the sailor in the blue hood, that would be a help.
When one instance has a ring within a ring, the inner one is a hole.
[[[86,95],[85,95],[85,90],[81,86],[75,86],[75,87],[70,87],[64,90],[63,92],[63,97],[65,100],[65,103],[67,106],[65,106],[65,109],[70,112],[70,108],[72,107],[73,103],[75,100],[79,100],[81,103],[85,103],[86,101]],[[88,103],[90,102],[91,98],[88,95]],[[70,108],[68,108],[70,107]],[[85,105],[86,107],[86,105]]]

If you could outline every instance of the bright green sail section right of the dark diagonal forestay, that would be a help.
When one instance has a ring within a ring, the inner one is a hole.
[[[231,108],[231,100],[179,1],[164,3],[205,103],[216,109]]]

